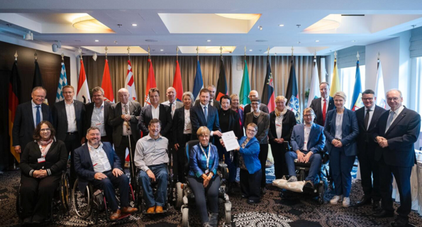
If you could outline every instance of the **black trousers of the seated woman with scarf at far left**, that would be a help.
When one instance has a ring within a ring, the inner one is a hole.
[[[48,218],[52,196],[59,187],[61,175],[44,178],[34,178],[21,175],[21,206],[22,216],[38,216]]]

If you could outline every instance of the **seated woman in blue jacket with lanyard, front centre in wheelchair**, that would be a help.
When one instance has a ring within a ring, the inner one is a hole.
[[[199,209],[201,223],[204,227],[217,226],[218,221],[218,188],[220,177],[217,174],[218,151],[215,145],[209,143],[210,131],[201,126],[196,131],[199,144],[189,151],[189,175],[187,181],[194,192],[196,209]],[[208,199],[211,216],[206,210]]]

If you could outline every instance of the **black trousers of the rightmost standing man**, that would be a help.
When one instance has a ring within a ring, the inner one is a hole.
[[[382,197],[382,209],[385,211],[394,211],[393,208],[393,175],[397,182],[400,193],[400,206],[397,214],[402,218],[409,218],[412,206],[412,196],[410,187],[412,167],[397,167],[387,165],[384,158],[379,160],[379,192]]]

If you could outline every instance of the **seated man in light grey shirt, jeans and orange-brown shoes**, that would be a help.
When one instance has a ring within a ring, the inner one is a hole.
[[[140,169],[138,181],[143,188],[147,214],[162,213],[167,200],[169,173],[167,148],[169,140],[160,135],[161,121],[153,118],[148,125],[148,135],[138,140],[135,150],[135,166]],[[151,181],[157,182],[157,193],[152,193]]]

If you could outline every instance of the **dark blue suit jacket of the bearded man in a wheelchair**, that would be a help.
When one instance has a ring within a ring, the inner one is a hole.
[[[120,165],[120,159],[114,152],[111,143],[104,142],[103,150],[109,158],[111,170],[116,168],[123,170]],[[76,171],[78,176],[79,191],[84,193],[88,183],[94,180],[94,175],[96,174],[91,155],[89,155],[88,143],[84,143],[84,145],[74,150],[74,171]]]

